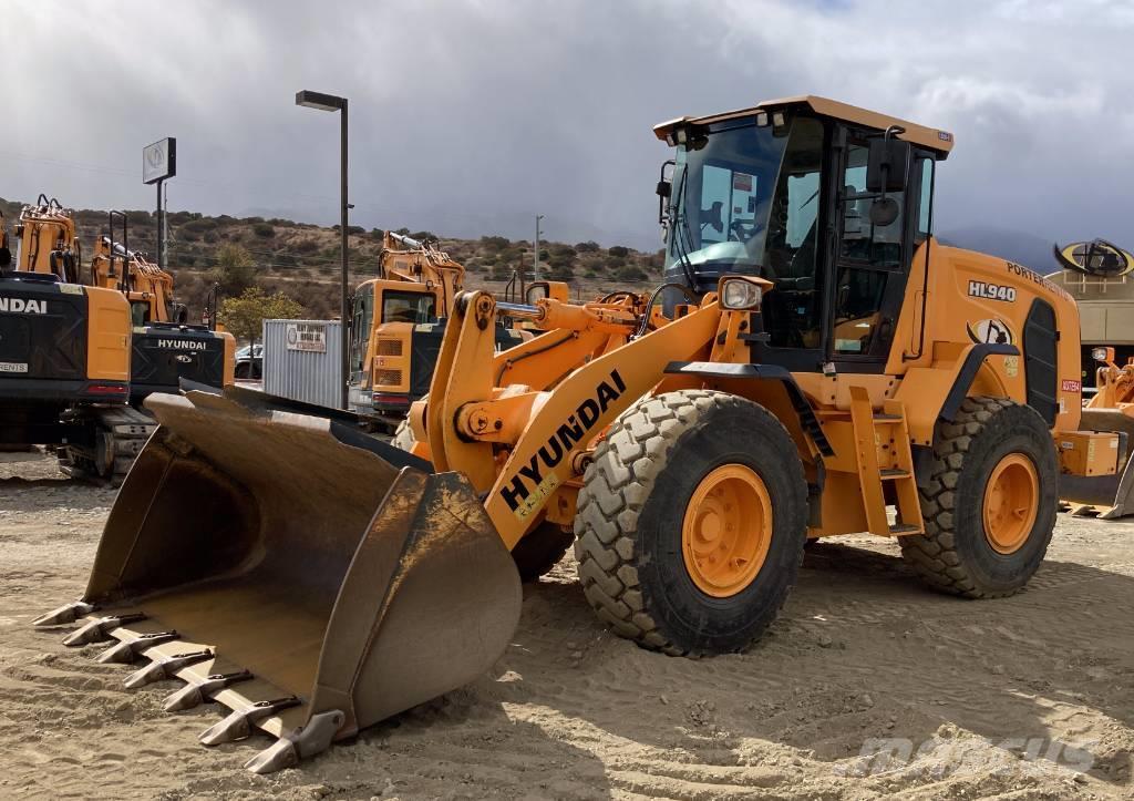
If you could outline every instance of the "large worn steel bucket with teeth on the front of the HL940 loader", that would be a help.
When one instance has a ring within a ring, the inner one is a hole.
[[[141,666],[128,686],[184,681],[169,709],[231,709],[205,744],[274,735],[248,762],[268,773],[483,674],[521,589],[463,475],[240,397],[150,397],[161,425],[86,592],[36,623],[82,617],[67,642],[116,641],[102,658]]]

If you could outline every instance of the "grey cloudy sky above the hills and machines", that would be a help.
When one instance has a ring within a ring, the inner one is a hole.
[[[652,125],[798,93],[956,135],[938,230],[1134,242],[1131,0],[370,0],[6,5],[0,196],[657,243]]]

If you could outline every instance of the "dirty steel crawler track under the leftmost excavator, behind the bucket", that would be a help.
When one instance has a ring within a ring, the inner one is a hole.
[[[133,406],[90,407],[79,413],[91,427],[93,445],[59,448],[59,466],[71,478],[105,481],[118,487],[142,453],[158,421]]]

